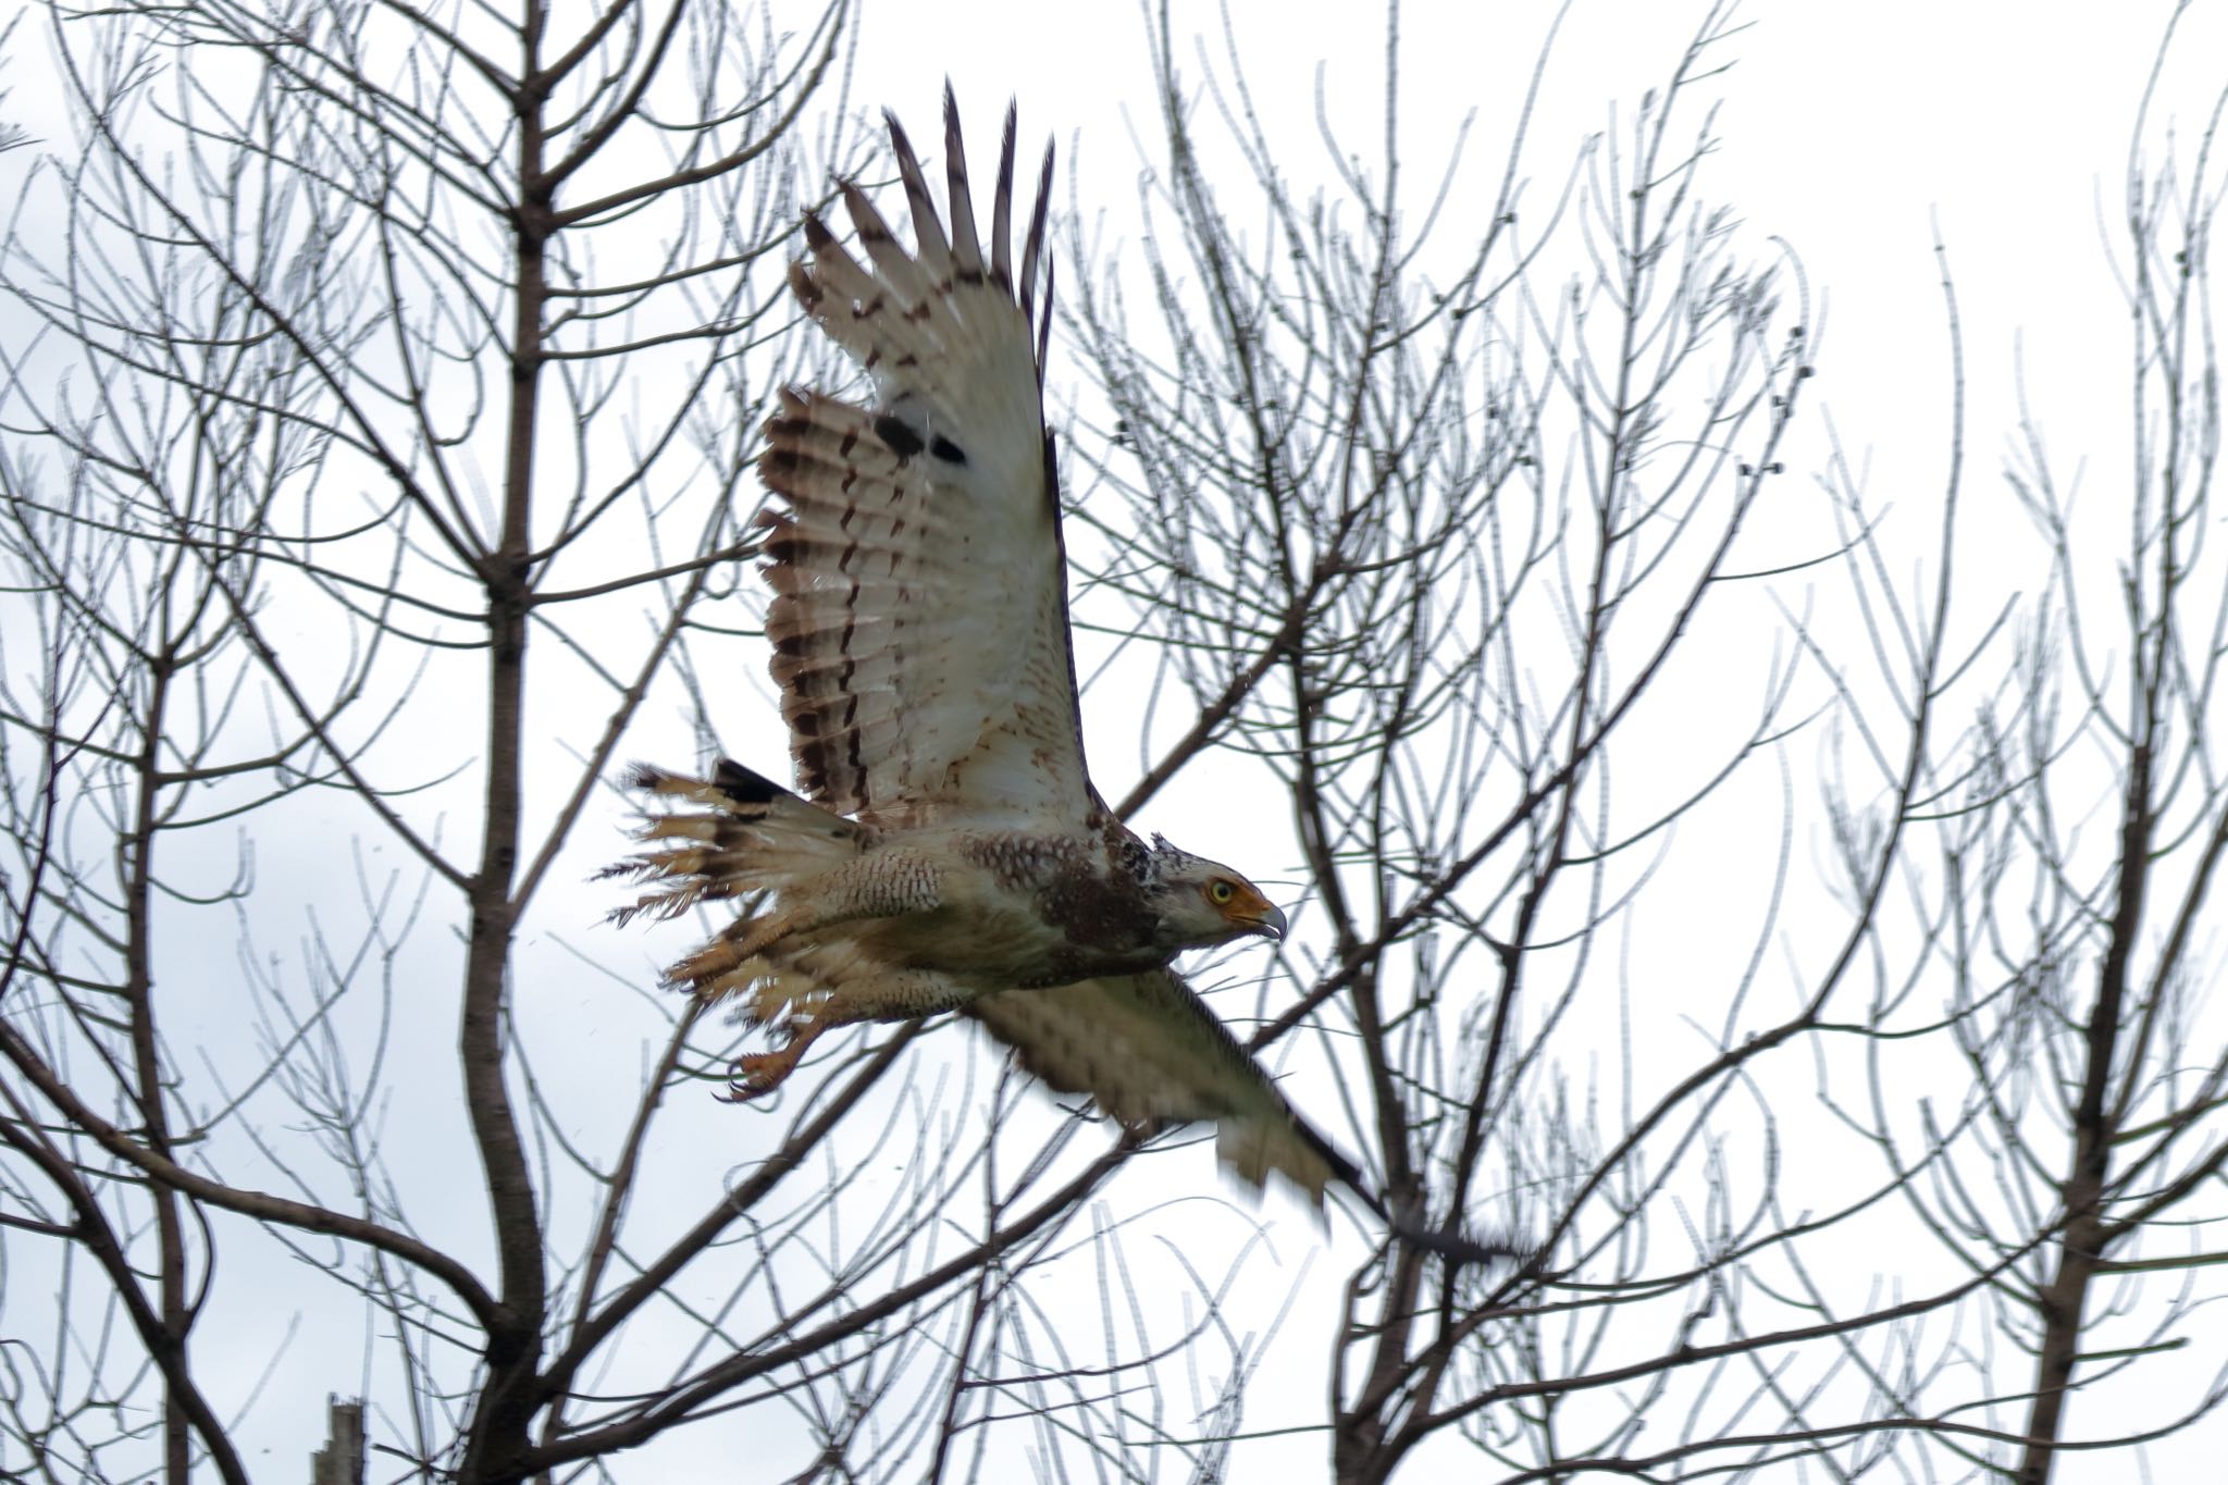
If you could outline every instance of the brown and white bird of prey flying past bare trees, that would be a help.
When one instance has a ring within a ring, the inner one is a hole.
[[[949,91],[949,232],[889,134],[916,247],[844,185],[862,256],[807,216],[791,267],[873,401],[784,392],[760,459],[780,496],[762,517],[766,637],[802,797],[729,761],[711,779],[637,770],[684,808],[615,868],[651,882],[619,917],[742,899],[668,971],[789,1033],[737,1064],[737,1095],[780,1084],[831,1026],[958,1009],[1052,1089],[1139,1129],[1214,1120],[1232,1171],[1321,1200],[1359,1180],[1352,1164],[1167,968],[1281,937],[1283,915],[1234,871],[1134,837],[1085,770],[1043,419],[1052,154],[1016,272],[1012,111],[987,243]]]

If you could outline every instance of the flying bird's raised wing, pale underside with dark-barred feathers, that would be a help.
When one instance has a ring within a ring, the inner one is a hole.
[[[873,824],[1076,830],[1096,797],[1076,726],[1040,390],[1052,151],[1016,278],[1014,114],[987,263],[951,91],[949,236],[896,118],[889,138],[916,249],[844,185],[867,265],[807,216],[811,260],[789,269],[804,309],[871,376],[876,401],[784,392],[760,459],[786,501],[764,517],[766,637],[798,781],[815,804]]]

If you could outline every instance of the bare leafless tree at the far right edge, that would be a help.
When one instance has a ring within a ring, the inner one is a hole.
[[[2228,1347],[2199,1314],[2219,1298],[2203,1273],[2228,1260],[2228,1037],[2206,1006],[2228,853],[2212,748],[2228,563],[2210,537],[2228,87],[2215,82],[2210,116],[2179,136],[2152,107],[2170,42],[2172,29],[2119,223],[2134,459],[2076,501],[2039,421],[2023,421],[2010,485],[2048,577],[1938,828],[1934,973],[1954,986],[1967,1089],[1929,1109],[1925,1131],[1872,1111],[1889,1164],[1941,1120],[1972,1129],[1905,1196],[1961,1267],[1996,1276],[1990,1318],[2032,1356],[2001,1405],[2021,1436],[2007,1474],[2027,1485],[2097,1436],[2083,1391],[2110,1398],[2112,1434],[2134,1436],[2228,1398]]]

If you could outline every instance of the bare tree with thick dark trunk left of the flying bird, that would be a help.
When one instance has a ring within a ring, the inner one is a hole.
[[[4,267],[7,1469],[247,1478],[292,1371],[368,1391],[390,1469],[550,1472],[795,1374],[860,1400],[840,1454],[931,1345],[885,1318],[985,1253],[931,1225],[934,1120],[882,1222],[811,1167],[905,1037],[644,1207],[722,1055],[639,964],[553,1006],[593,968],[546,904],[582,819],[617,853],[628,726],[702,717],[691,643],[746,623],[847,7],[47,20],[80,131]],[[613,1033],[659,1051],[582,1055]]]

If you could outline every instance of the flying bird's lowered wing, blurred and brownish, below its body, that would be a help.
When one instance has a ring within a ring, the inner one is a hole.
[[[1049,991],[1000,991],[967,1015],[1058,1093],[1152,1129],[1214,1122],[1214,1153],[1259,1187],[1270,1171],[1323,1202],[1332,1180],[1370,1196],[1361,1171],[1308,1127],[1252,1053],[1174,971],[1110,975]]]

